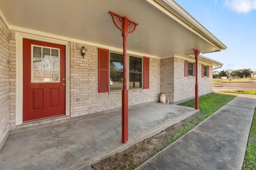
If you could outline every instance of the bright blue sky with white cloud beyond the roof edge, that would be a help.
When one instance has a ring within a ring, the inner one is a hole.
[[[223,69],[256,71],[256,0],[176,0],[228,48],[204,54]]]

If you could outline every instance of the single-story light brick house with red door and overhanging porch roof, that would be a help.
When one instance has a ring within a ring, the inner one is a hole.
[[[139,24],[127,39],[129,105],[161,92],[172,104],[194,98],[193,49],[226,49],[174,1],[80,2],[1,2],[0,148],[15,128],[121,108],[122,37],[110,10]],[[217,65],[199,56],[199,95],[212,92]]]

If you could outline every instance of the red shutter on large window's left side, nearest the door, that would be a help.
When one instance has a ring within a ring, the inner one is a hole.
[[[109,52],[98,48],[98,92],[109,91]]]

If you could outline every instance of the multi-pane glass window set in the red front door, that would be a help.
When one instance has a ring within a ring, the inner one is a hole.
[[[31,82],[59,82],[59,49],[32,46]]]

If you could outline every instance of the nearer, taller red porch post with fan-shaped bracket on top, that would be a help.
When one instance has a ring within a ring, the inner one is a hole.
[[[112,20],[116,27],[122,31],[123,37],[123,90],[122,90],[122,142],[128,141],[128,90],[127,90],[127,68],[126,68],[126,44],[128,33],[135,31],[138,23],[127,19],[125,16],[110,12]]]

